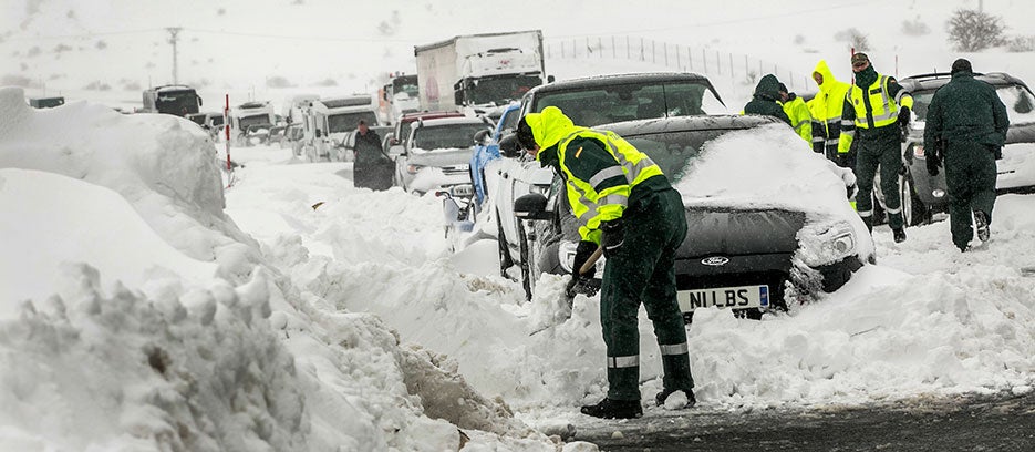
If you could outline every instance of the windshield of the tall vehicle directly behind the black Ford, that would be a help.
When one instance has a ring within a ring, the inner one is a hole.
[[[537,95],[532,111],[557,106],[577,125],[724,113],[704,82],[658,82],[599,86]]]

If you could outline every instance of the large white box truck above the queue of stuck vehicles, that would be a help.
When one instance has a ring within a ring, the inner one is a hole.
[[[542,31],[467,34],[414,47],[421,107],[499,107],[542,84]]]

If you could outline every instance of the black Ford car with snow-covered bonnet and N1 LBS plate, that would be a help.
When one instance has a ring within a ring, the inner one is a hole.
[[[876,263],[872,238],[848,202],[851,171],[810,152],[778,120],[679,116],[600,129],[648,154],[683,195],[687,234],[675,271],[687,321],[703,307],[760,318],[837,290]],[[578,220],[565,189],[557,177],[548,196],[515,203],[526,222],[548,225],[525,245],[541,271],[571,273]]]

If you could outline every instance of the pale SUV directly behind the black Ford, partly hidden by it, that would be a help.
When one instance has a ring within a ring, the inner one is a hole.
[[[539,85],[521,97],[519,117],[541,112],[547,106],[560,107],[577,125],[587,127],[618,121],[727,111],[706,76],[686,72],[600,75]],[[475,174],[486,181],[484,185],[488,197],[498,199],[489,215],[477,219],[482,223],[494,218],[496,224],[476,224],[475,230],[495,230],[499,243],[500,274],[517,279],[510,275],[510,269],[517,267],[526,298],[531,299],[538,269],[535,261],[524,257],[527,249],[522,249],[528,242],[526,238],[536,236],[537,232],[524,228],[513,207],[522,195],[549,191],[553,173],[522,153],[516,153],[514,157],[489,161],[480,173]]]

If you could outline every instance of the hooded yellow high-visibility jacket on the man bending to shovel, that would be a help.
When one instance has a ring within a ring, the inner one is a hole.
[[[581,223],[579,235],[583,240],[600,244],[600,224],[622,216],[633,188],[653,176],[663,176],[646,154],[622,137],[576,126],[556,106],[529,113],[525,121],[540,147],[537,160],[556,165],[565,178],[568,202]],[[667,179],[664,185],[669,185]]]

